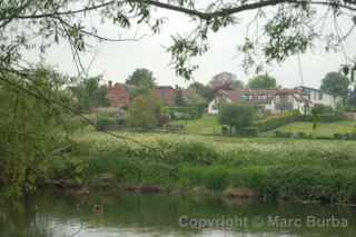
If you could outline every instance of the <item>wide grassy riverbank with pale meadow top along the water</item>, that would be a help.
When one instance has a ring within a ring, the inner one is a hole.
[[[128,140],[99,132],[78,136],[75,158],[59,160],[62,170],[57,169],[52,178],[98,185],[106,177],[123,187],[147,185],[174,191],[200,187],[216,192],[244,188],[270,198],[356,200],[353,141],[120,136]]]

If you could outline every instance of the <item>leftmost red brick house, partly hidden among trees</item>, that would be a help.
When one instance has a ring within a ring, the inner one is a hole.
[[[130,103],[130,95],[128,88],[123,83],[108,83],[108,97],[111,107],[127,107]]]

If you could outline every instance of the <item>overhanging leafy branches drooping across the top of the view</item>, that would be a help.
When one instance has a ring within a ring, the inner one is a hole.
[[[317,8],[318,7],[318,8]],[[0,38],[7,39],[11,33],[13,40],[2,40],[0,46],[0,61],[2,67],[13,69],[21,62],[21,56],[26,50],[46,51],[51,45],[66,41],[72,47],[77,62],[81,62],[79,55],[86,51],[89,38],[106,41],[138,40],[125,38],[108,38],[100,34],[99,29],[88,23],[90,17],[98,16],[106,22],[112,22],[115,27],[130,28],[135,24],[147,26],[154,33],[159,33],[165,24],[165,18],[159,18],[156,8],[167,11],[180,12],[189,19],[194,19],[191,33],[178,33],[172,38],[172,45],[167,47],[171,53],[172,66],[178,76],[191,78],[198,68],[191,63],[191,58],[208,51],[209,36],[221,29],[238,24],[239,14],[256,11],[256,23],[260,34],[255,32],[251,23],[245,41],[239,50],[244,53],[244,66],[256,65],[256,55],[263,53],[266,62],[280,62],[293,55],[305,52],[315,45],[318,39],[327,36],[326,50],[337,48],[349,36],[339,36],[337,27],[334,33],[323,31],[319,11],[327,9],[323,14],[326,19],[333,14],[335,23],[337,19],[349,19],[350,24],[356,23],[356,2],[352,0],[264,0],[264,1],[218,1],[207,0],[196,2],[194,0],[122,0],[122,1],[1,1],[0,4]],[[273,13],[266,11],[274,8]],[[95,14],[97,13],[97,14]],[[350,16],[350,17],[349,17]],[[263,20],[260,20],[263,19]],[[26,30],[23,30],[26,29]],[[332,37],[330,37],[332,36]],[[41,40],[38,40],[38,37]],[[34,42],[34,43],[33,43]],[[323,42],[323,41],[322,41]],[[260,53],[258,53],[260,52]],[[23,65],[22,65],[23,66]],[[19,70],[19,68],[16,68]],[[78,69],[85,71],[81,63]]]

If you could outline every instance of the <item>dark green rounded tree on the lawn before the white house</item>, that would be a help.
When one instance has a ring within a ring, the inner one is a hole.
[[[243,103],[222,103],[219,109],[218,120],[220,125],[229,126],[229,134],[233,129],[248,127],[253,124],[255,108]]]

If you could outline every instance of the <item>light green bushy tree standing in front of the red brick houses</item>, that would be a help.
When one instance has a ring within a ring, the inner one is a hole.
[[[128,125],[154,128],[159,125],[161,103],[155,91],[137,96],[129,106]]]

